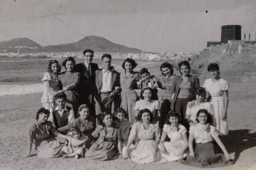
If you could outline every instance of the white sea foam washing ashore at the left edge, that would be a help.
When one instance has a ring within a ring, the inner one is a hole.
[[[43,92],[43,83],[26,85],[0,85],[0,96],[24,95],[29,93]]]

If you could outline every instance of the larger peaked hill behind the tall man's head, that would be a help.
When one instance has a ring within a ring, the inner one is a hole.
[[[49,45],[45,48],[51,48],[52,50],[59,50],[59,51],[83,51],[86,48],[91,48],[93,51],[97,52],[121,52],[121,53],[141,53],[140,49],[137,48],[130,48],[124,45],[115,44],[111,41],[103,38],[98,37],[96,35],[90,35],[83,38],[76,43],[69,43],[69,44],[60,44],[60,45]]]

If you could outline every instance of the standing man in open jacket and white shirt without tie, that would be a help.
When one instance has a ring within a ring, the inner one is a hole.
[[[116,108],[120,107],[120,74],[111,66],[112,57],[110,54],[102,55],[101,59],[103,68],[95,72],[96,115],[104,111],[113,113]]]

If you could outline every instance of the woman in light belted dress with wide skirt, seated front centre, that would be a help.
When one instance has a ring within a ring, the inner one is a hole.
[[[142,109],[138,113],[139,122],[132,126],[127,149],[124,158],[130,158],[137,163],[161,163],[163,162],[158,143],[160,141],[160,129],[158,124],[153,125],[152,113],[148,109]],[[134,139],[138,139],[136,147],[129,149]]]

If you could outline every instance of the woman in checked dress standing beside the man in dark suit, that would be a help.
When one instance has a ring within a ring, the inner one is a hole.
[[[62,84],[62,91],[67,95],[66,105],[73,108],[75,118],[77,118],[79,106],[77,87],[80,81],[80,73],[74,71],[75,64],[73,57],[66,58],[62,63],[66,71],[61,72],[58,78]]]

